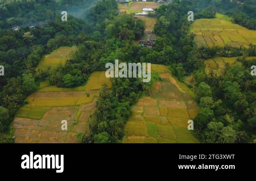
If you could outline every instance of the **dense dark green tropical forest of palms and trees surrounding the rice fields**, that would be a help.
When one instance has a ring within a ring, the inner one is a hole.
[[[256,142],[256,78],[251,65],[256,59],[256,46],[248,48],[197,47],[192,22],[215,18],[223,13],[234,23],[256,29],[255,0],[174,0],[157,8],[154,28],[155,47],[142,47],[136,40],[144,34],[145,23],[127,13],[118,13],[115,0],[6,0],[0,6],[0,142],[13,142],[11,122],[27,96],[38,89],[42,80],[60,88],[73,88],[86,83],[93,71],[105,70],[107,62],[150,62],[167,65],[180,81],[194,75],[193,85],[200,113],[194,119],[196,137],[207,143]],[[94,5],[95,3],[95,5]],[[61,11],[81,10],[61,21]],[[78,8],[78,9],[76,9]],[[83,16],[84,18],[82,18]],[[35,27],[30,27],[34,25]],[[14,31],[13,26],[21,26]],[[36,71],[44,54],[61,46],[77,46],[73,59],[65,66]],[[224,74],[205,73],[204,61],[211,57],[240,57],[227,64]],[[112,78],[112,88],[104,85],[99,93],[96,111],[91,115],[90,134],[79,134],[80,142],[118,143],[124,136],[131,106],[142,95],[150,94],[157,74],[150,83],[139,78]]]

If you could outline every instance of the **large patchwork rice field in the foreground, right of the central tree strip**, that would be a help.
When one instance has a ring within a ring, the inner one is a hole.
[[[199,107],[187,90],[163,65],[151,65],[163,79],[155,82],[155,96],[142,97],[132,107],[125,125],[123,143],[198,143],[188,120],[197,116]]]

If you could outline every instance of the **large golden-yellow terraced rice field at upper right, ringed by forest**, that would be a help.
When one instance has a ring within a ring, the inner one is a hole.
[[[191,31],[195,33],[198,47],[214,47],[229,44],[232,47],[256,45],[256,31],[232,23],[232,19],[216,14],[213,19],[198,19],[192,23]]]

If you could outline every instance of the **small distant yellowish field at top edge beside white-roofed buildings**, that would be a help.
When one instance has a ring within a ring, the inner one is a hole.
[[[127,14],[141,13],[143,8],[158,8],[159,4],[155,2],[129,2],[127,4],[118,4],[118,9],[121,13]]]

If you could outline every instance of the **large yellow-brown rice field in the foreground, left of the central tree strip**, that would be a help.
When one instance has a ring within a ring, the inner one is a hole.
[[[111,88],[111,80],[106,78],[105,72],[93,72],[84,86],[51,86],[32,93],[14,118],[15,142],[77,142],[77,133],[89,133],[88,119],[103,83]],[[67,130],[61,129],[62,120],[67,120]]]

